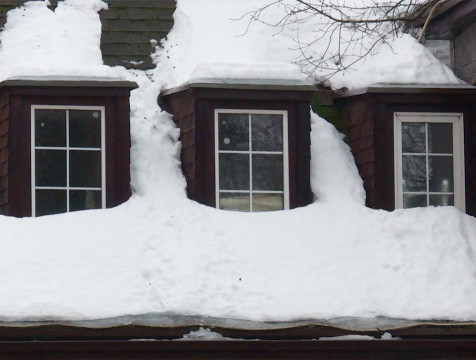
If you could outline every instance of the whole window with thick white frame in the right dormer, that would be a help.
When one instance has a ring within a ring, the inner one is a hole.
[[[465,211],[461,113],[395,113],[395,207]]]

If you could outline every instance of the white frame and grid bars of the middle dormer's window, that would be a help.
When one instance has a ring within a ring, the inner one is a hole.
[[[218,117],[219,114],[246,114],[248,116],[248,150],[220,150],[219,149],[219,131],[218,131]],[[283,118],[283,151],[255,151],[252,149],[252,115],[254,114],[277,114],[282,115]],[[216,207],[220,207],[221,193],[238,193],[249,194],[250,197],[250,212],[253,212],[253,193],[254,194],[283,194],[284,209],[289,209],[289,191],[288,191],[288,158],[287,158],[287,112],[281,110],[230,110],[230,109],[216,109],[215,110],[215,183],[216,183]],[[222,190],[220,189],[219,180],[219,158],[220,154],[248,154],[249,161],[249,190]],[[253,190],[253,155],[282,155],[283,156],[283,190]]]

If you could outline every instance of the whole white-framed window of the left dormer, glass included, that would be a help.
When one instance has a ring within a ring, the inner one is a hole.
[[[32,105],[32,216],[106,205],[104,106]]]

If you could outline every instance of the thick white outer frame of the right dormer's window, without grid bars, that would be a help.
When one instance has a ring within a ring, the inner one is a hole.
[[[394,113],[395,208],[403,208],[402,124],[451,123],[453,126],[454,206],[466,210],[464,177],[464,120],[462,113],[396,112]],[[427,192],[428,193],[428,192]]]

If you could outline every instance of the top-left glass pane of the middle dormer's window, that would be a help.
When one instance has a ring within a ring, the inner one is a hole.
[[[218,114],[219,149],[249,151],[248,128],[248,114]]]

